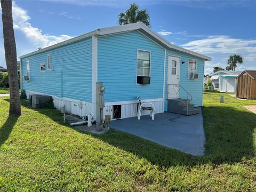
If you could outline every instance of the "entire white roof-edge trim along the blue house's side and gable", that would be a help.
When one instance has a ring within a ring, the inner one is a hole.
[[[159,42],[163,43],[166,47],[169,47],[170,49],[185,52],[185,53],[194,55],[196,57],[202,58],[204,60],[211,60],[212,59],[210,57],[207,57],[206,55],[199,54],[199,53],[196,53],[194,51],[190,51],[190,50],[187,50],[185,48],[182,48],[182,47],[171,44],[166,39],[164,39],[163,37],[161,37],[160,35],[155,33],[155,31],[153,31],[152,29],[150,29],[149,27],[144,25],[142,22],[127,24],[127,25],[121,25],[121,26],[100,28],[100,29],[91,31],[90,33],[86,33],[84,35],[80,35],[80,36],[68,39],[67,41],[63,41],[61,43],[57,43],[57,44],[51,45],[49,47],[45,47],[44,49],[37,50],[37,51],[31,52],[31,53],[22,55],[19,58],[21,59],[21,58],[29,57],[31,55],[41,53],[41,52],[44,52],[44,51],[47,51],[47,50],[51,50],[51,49],[54,49],[54,48],[59,47],[59,46],[63,46],[63,45],[66,45],[66,44],[77,42],[77,41],[80,41],[84,38],[90,37],[92,35],[97,35],[97,36],[109,35],[109,34],[125,32],[125,31],[137,30],[137,29],[142,29],[142,30],[146,31],[147,34],[154,37],[155,39],[157,39]]]

